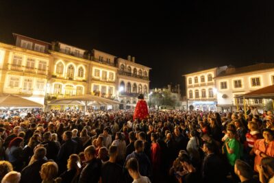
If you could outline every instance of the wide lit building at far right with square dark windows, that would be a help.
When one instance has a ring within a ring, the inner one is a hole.
[[[235,99],[238,95],[274,84],[274,64],[260,63],[235,68],[229,66],[214,77],[216,84],[217,110],[235,111],[236,103],[243,108],[243,100]],[[247,105],[262,109],[267,99],[249,99]]]

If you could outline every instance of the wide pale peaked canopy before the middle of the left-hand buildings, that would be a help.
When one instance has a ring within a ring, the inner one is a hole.
[[[104,106],[119,104],[119,101],[105,99],[95,95],[78,95],[64,99],[56,99],[48,103],[48,105],[79,105],[79,106]]]

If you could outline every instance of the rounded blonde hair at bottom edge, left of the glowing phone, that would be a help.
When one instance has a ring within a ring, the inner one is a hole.
[[[46,162],[41,167],[42,180],[53,180],[58,175],[58,165],[56,162]]]

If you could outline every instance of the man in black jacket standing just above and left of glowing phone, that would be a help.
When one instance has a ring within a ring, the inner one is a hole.
[[[59,172],[63,173],[66,171],[66,163],[71,154],[76,154],[77,151],[77,142],[72,140],[73,133],[71,131],[66,131],[63,134],[64,144],[61,145],[58,152],[57,160]]]

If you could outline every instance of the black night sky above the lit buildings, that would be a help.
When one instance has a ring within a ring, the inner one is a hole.
[[[3,1],[0,41],[12,32],[115,56],[152,68],[151,88],[182,74],[274,60],[273,1]]]

